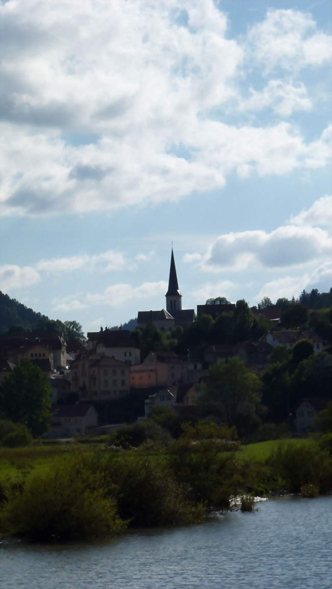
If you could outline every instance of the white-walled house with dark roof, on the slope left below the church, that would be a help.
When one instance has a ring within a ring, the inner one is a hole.
[[[111,356],[129,365],[140,363],[140,350],[136,347],[129,329],[103,329],[88,332],[88,352]]]

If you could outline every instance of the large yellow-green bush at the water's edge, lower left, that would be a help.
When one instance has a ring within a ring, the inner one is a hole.
[[[102,477],[77,459],[12,484],[2,503],[0,532],[38,540],[114,534],[124,529]]]

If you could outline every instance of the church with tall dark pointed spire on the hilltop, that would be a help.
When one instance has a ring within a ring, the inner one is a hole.
[[[166,293],[166,309],[160,311],[139,311],[137,327],[146,327],[149,323],[163,332],[169,332],[173,327],[189,327],[195,319],[193,309],[182,309],[182,294],[177,283],[176,267],[173,247],[170,257],[168,290]]]

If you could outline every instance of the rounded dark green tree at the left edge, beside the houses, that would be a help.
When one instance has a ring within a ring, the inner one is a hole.
[[[50,427],[51,392],[44,372],[24,360],[0,386],[1,414],[5,419],[24,423],[33,436],[40,436]]]

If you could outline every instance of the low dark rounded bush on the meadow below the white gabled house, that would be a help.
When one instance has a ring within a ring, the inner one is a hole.
[[[132,425],[124,425],[109,434],[110,445],[129,448],[137,448],[147,440],[167,444],[170,441],[169,433],[154,421],[136,421]]]

